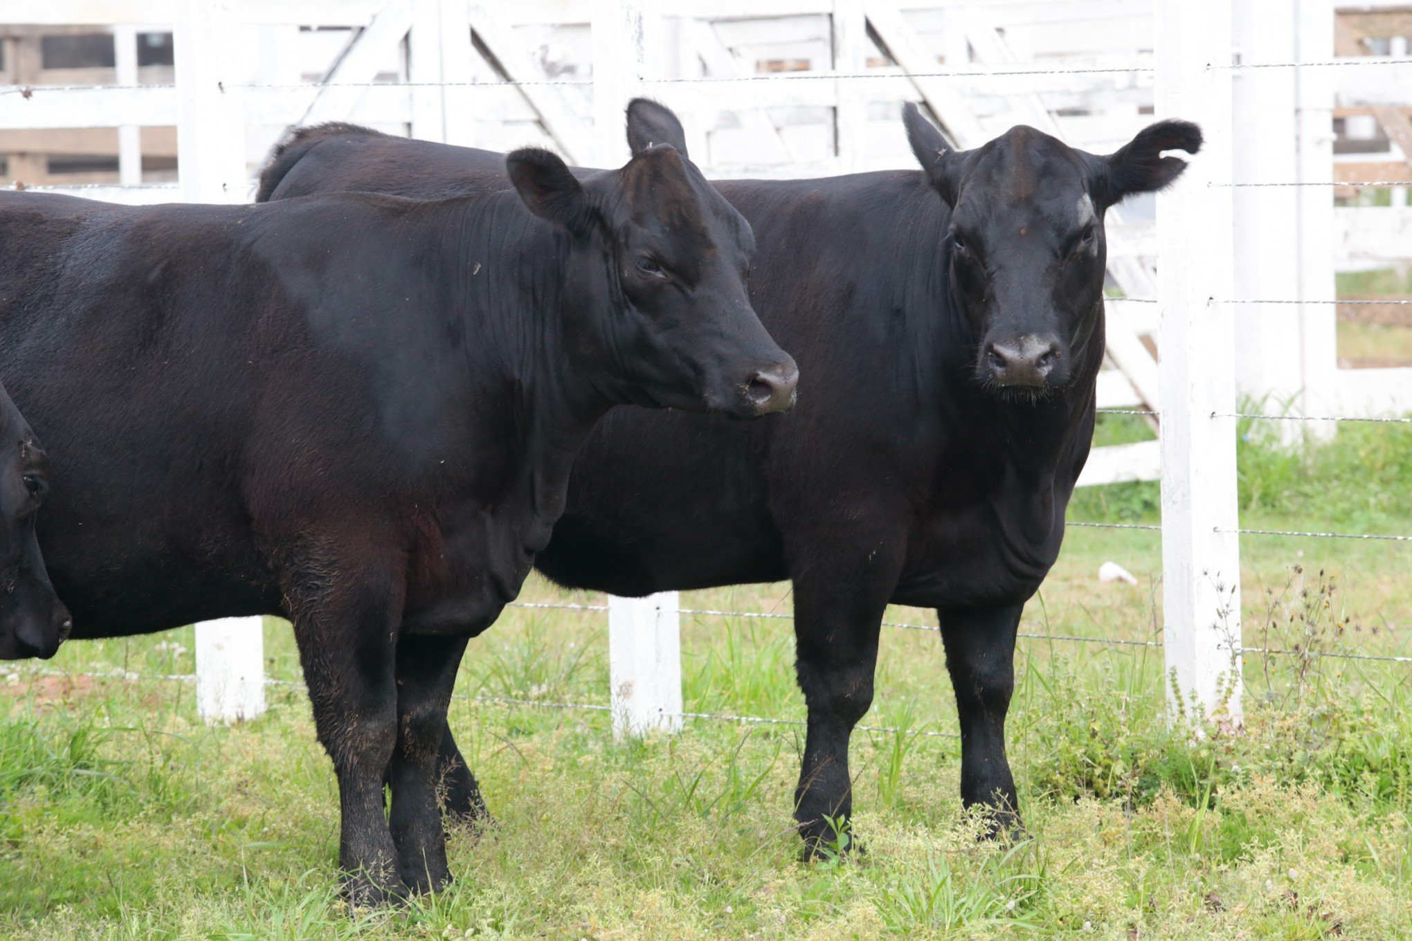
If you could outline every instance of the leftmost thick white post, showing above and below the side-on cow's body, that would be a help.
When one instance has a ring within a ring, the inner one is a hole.
[[[185,0],[176,11],[176,169],[193,203],[243,203],[244,107],[234,0]],[[264,700],[261,618],[196,625],[196,707],[208,722],[256,718]]]

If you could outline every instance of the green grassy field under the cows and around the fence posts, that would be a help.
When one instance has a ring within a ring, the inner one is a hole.
[[[1104,422],[1103,440],[1139,437]],[[1299,457],[1243,429],[1244,523],[1412,532],[1412,430],[1344,426]],[[1070,518],[1152,521],[1154,485],[1083,492]],[[1250,536],[1245,643],[1412,655],[1412,546]],[[1114,560],[1137,585],[1100,584]],[[1158,638],[1158,533],[1070,529],[1022,631]],[[542,581],[525,598],[596,601]],[[689,607],[788,611],[786,585]],[[935,624],[899,608],[890,621]],[[189,629],[80,642],[0,681],[0,938],[1347,938],[1412,937],[1412,664],[1252,653],[1243,735],[1162,718],[1158,648],[1025,638],[1011,759],[1029,838],[974,838],[933,632],[884,628],[858,732],[866,854],[801,863],[801,731],[692,720],[614,743],[600,711],[453,704],[497,824],[450,842],[457,883],[395,913],[336,900],[337,796],[297,686],[209,729]],[[298,667],[265,625],[274,677]],[[686,708],[799,720],[788,621],[685,618]],[[3,676],[3,674],[0,674]],[[602,704],[602,614],[517,608],[472,645],[459,694]]]

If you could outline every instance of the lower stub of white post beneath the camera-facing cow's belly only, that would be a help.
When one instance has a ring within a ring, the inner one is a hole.
[[[682,643],[678,595],[609,595],[609,683],[613,734],[682,728]]]

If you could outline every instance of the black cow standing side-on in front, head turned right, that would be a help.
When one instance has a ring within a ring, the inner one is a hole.
[[[486,196],[0,195],[0,368],[64,456],[40,539],[75,636],[288,617],[354,901],[450,878],[432,772],[456,666],[593,423],[792,402],[741,281],[750,226],[661,113],[633,121],[664,144],[582,185],[515,151]]]

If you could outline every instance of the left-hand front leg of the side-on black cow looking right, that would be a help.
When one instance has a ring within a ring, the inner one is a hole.
[[[343,890],[356,906],[381,906],[407,894],[383,814],[383,773],[397,743],[401,580],[359,576],[329,584],[321,561],[288,591],[313,724],[339,780]]]

